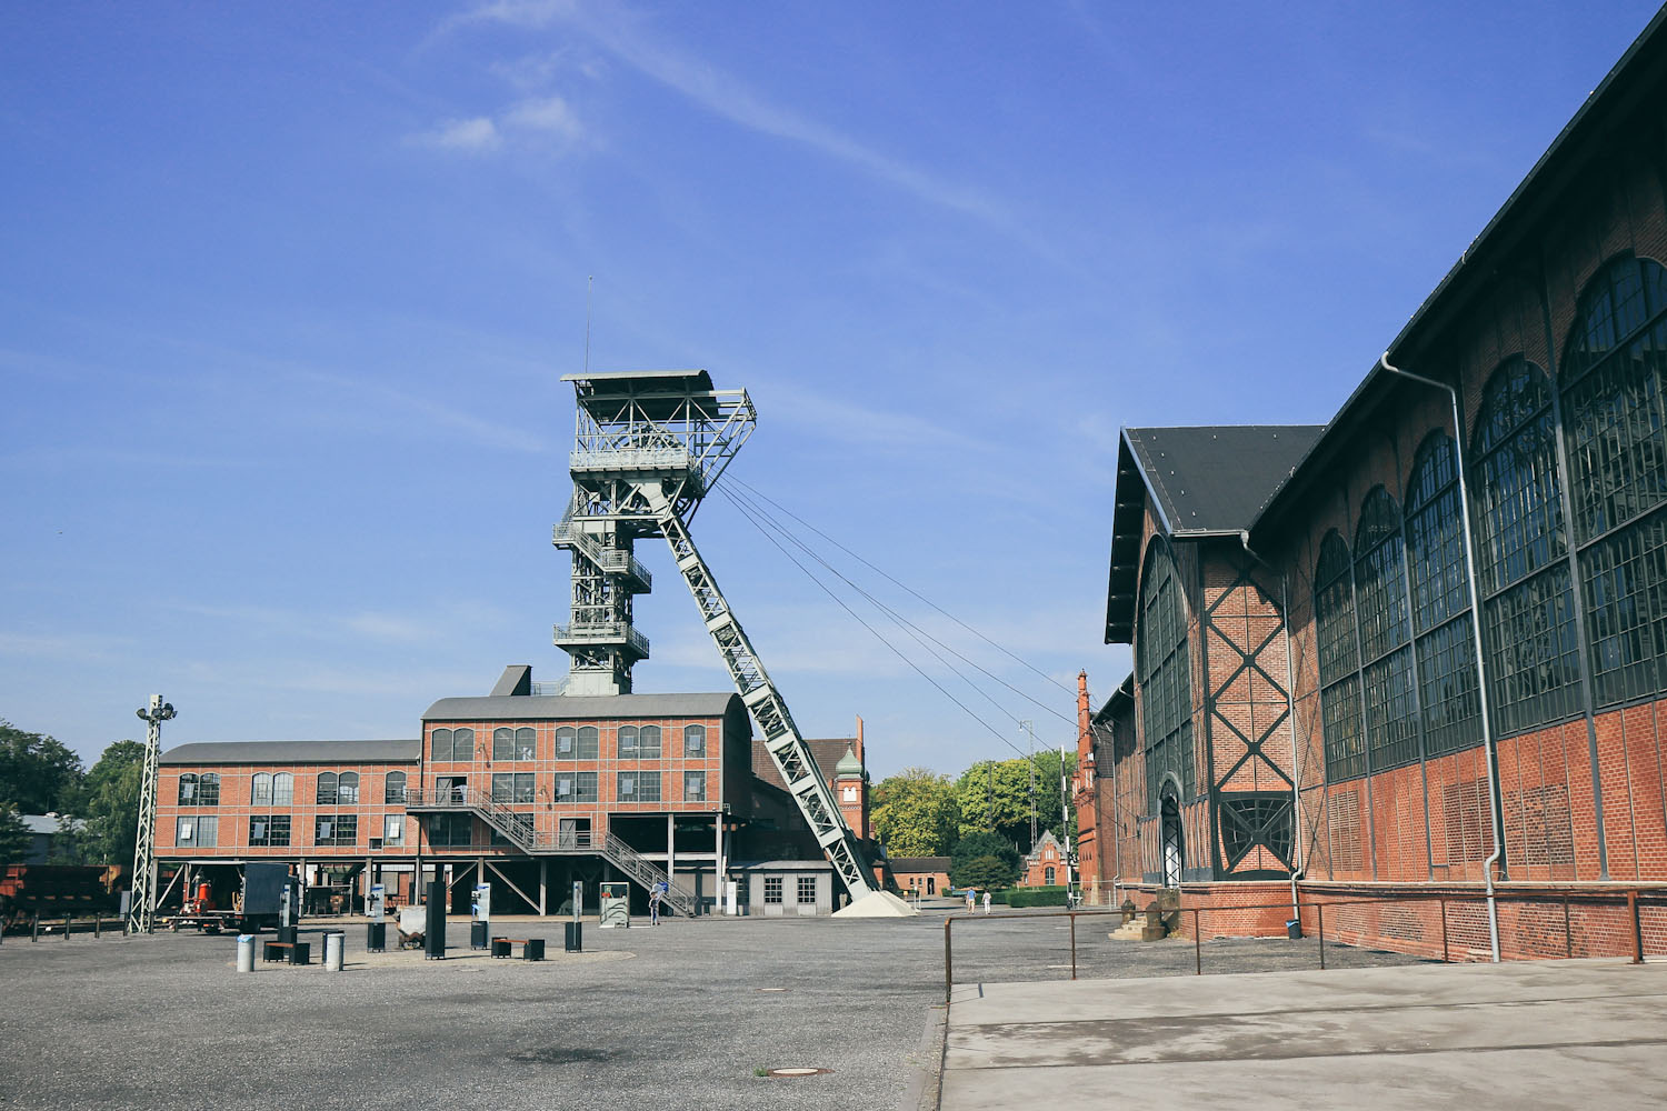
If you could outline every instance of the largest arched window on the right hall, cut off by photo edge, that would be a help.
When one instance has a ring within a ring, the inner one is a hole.
[[[1667,270],[1612,258],[1562,361],[1569,493],[1594,700],[1667,688]]]

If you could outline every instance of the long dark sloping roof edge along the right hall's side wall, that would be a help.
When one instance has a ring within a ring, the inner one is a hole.
[[[1664,95],[1667,95],[1667,7],[1655,13],[1620,55],[1522,183],[1512,190],[1487,227],[1459,255],[1459,262],[1447,270],[1389,343],[1385,355],[1390,363],[1427,378],[1445,378],[1449,358],[1424,358],[1440,343],[1444,330],[1452,321],[1462,320],[1477,298],[1494,295],[1499,272],[1519,265],[1512,257],[1524,248],[1540,220],[1559,218],[1579,175],[1605,173],[1609,163],[1604,152],[1617,143],[1635,142],[1625,127],[1629,117],[1635,113],[1634,118],[1644,120],[1644,127],[1654,133]],[[1529,258],[1539,265],[1537,250],[1530,250]],[[1277,533],[1302,505],[1302,495],[1324,478],[1330,463],[1349,453],[1360,423],[1404,390],[1430,391],[1429,386],[1392,375],[1379,361],[1372,363],[1292,480],[1284,483],[1257,515],[1252,546],[1262,548],[1272,540],[1270,533]]]

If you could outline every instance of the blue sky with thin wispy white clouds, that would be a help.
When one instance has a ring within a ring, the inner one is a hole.
[[[152,691],[172,745],[558,678],[593,275],[592,368],[747,386],[733,476],[1054,680],[885,586],[1044,703],[924,660],[980,725],[713,498],[807,735],[1072,743],[1117,428],[1325,421],[1652,13],[7,5],[0,716],[90,761]],[[727,690],[640,555],[637,688]]]

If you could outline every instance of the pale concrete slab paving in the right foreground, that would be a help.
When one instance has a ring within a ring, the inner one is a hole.
[[[959,984],[944,1111],[1660,1108],[1667,964]]]

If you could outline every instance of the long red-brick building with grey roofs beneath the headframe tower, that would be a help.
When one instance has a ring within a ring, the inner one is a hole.
[[[865,838],[860,733],[807,745]],[[535,695],[512,666],[487,696],[433,703],[420,740],[168,750],[157,889],[180,878],[167,906],[207,881],[227,906],[235,866],[267,859],[295,866],[313,913],[353,911],[370,883],[408,903],[418,876],[447,881],[453,911],[475,883],[498,913],[557,913],[573,881],[590,906],[598,881],[642,901],[668,876],[678,911],[712,913],[722,876],[740,913],[828,913],[832,866],[770,773],[737,695]]]

